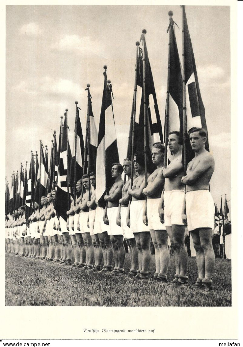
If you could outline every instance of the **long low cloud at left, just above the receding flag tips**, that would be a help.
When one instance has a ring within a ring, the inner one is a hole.
[[[68,79],[54,79],[46,76],[35,81],[21,81],[18,85],[12,87],[12,89],[20,91],[26,94],[71,94],[79,95],[83,92],[80,84],[74,83]]]

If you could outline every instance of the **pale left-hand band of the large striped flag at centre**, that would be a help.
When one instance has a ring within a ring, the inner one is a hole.
[[[105,192],[105,138],[97,147],[96,157],[96,199],[97,201]]]

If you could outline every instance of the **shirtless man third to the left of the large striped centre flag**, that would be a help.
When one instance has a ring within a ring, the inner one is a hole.
[[[73,223],[71,224],[71,221],[69,221],[69,232],[70,228],[73,230],[73,250],[74,250],[74,256],[75,256],[75,262],[73,266],[77,266],[78,268],[84,268],[86,263],[86,250],[84,245],[84,239],[80,232],[80,226],[79,226],[79,214],[80,214],[80,208],[79,203],[81,200],[81,190],[82,190],[82,179],[77,181],[76,184],[76,203],[74,205],[74,202],[71,204],[72,210],[74,212],[73,215]],[[79,196],[80,195],[80,196]],[[67,214],[70,217],[71,214],[71,208],[67,212]],[[72,237],[72,236],[71,236]],[[77,247],[75,247],[77,245]]]

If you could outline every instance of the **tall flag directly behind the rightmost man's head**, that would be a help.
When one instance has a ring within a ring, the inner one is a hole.
[[[192,42],[188,30],[188,24],[185,14],[185,6],[183,9],[184,23],[184,71],[185,71],[185,104],[186,104],[186,130],[192,127],[204,128],[207,130],[205,108],[202,102],[202,97],[199,88],[196,62],[192,49]],[[186,135],[186,162],[194,158],[194,152],[191,149],[189,136]],[[208,139],[205,143],[205,148],[209,151]]]

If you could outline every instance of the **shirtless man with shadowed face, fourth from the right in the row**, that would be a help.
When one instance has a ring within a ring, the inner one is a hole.
[[[139,267],[138,273],[134,278],[148,280],[151,253],[149,250],[149,227],[143,223],[143,212],[146,206],[145,196],[142,193],[145,188],[144,155],[135,154],[133,165],[138,177],[134,179],[132,188],[128,188],[128,194],[132,196],[129,209],[130,220],[128,218],[128,223],[130,223],[130,231],[134,234],[138,248]]]

